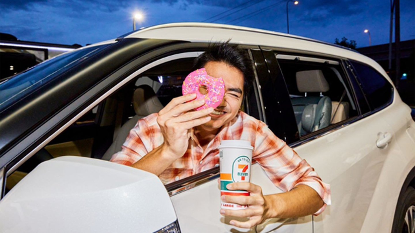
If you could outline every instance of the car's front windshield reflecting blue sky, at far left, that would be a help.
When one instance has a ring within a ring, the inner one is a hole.
[[[0,112],[105,47],[107,45],[93,46],[51,58],[2,83],[0,82]]]

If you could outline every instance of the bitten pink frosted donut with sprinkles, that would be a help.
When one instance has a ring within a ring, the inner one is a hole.
[[[200,93],[199,88],[201,86],[206,87],[206,95]],[[205,104],[196,110],[208,107],[216,108],[222,102],[223,95],[225,95],[225,83],[222,78],[213,78],[207,75],[205,68],[201,68],[187,75],[182,85],[182,93],[183,95],[196,93],[196,100],[205,100]]]

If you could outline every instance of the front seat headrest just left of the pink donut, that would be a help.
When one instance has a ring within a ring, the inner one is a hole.
[[[133,95],[133,106],[135,113],[139,116],[147,116],[163,108],[163,104],[149,85],[137,87]]]

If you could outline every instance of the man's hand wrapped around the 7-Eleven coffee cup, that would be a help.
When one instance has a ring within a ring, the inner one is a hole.
[[[262,189],[258,185],[249,182],[238,182],[228,184],[226,187],[229,190],[247,190],[251,193],[251,196],[248,197],[229,195],[223,195],[221,197],[222,201],[227,203],[249,205],[248,209],[242,210],[221,209],[220,214],[225,216],[249,218],[249,220],[245,222],[231,220],[230,224],[241,228],[251,228],[264,222],[267,218],[272,217],[271,215],[269,215],[269,203],[266,200],[266,198],[264,198],[264,196],[262,195]]]

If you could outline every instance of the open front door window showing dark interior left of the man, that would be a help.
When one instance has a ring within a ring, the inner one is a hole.
[[[112,93],[17,167],[6,179],[6,193],[39,163],[52,158],[72,155],[110,160],[121,150],[139,119],[158,112],[182,95],[181,85],[192,71],[193,60],[194,57],[180,58],[155,66]],[[152,97],[151,93],[160,105],[152,100],[146,107],[137,108],[137,103]]]

